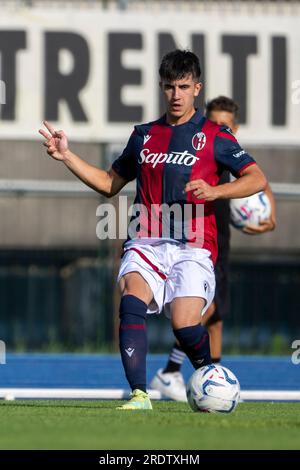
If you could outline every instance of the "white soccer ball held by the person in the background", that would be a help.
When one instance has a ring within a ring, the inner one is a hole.
[[[271,215],[271,204],[264,191],[242,199],[231,199],[230,219],[235,228],[242,230],[248,225],[259,225]]]

